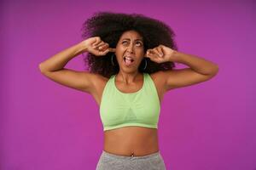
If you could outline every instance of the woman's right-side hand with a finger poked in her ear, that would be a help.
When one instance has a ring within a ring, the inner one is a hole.
[[[164,45],[159,45],[156,48],[148,49],[145,57],[156,63],[164,63],[167,61],[174,61],[175,50]],[[161,55],[162,54],[162,55]]]

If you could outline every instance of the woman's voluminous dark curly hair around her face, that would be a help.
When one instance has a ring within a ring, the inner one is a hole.
[[[119,37],[125,31],[137,31],[143,37],[144,51],[148,48],[155,48],[160,44],[166,47],[177,50],[175,36],[172,28],[167,26],[160,20],[155,20],[144,16],[143,14],[124,14],[112,12],[97,12],[92,17],[84,21],[82,26],[82,37],[101,37],[103,42],[108,42],[110,48],[115,48],[119,42]],[[113,53],[108,53],[105,56],[96,56],[88,53],[84,56],[85,65],[89,66],[90,72],[101,74],[103,77],[111,77],[119,72],[119,65],[112,65],[111,56]],[[148,58],[147,67],[142,62],[139,67],[139,72],[154,73],[156,71],[172,70],[175,67],[174,62],[156,63]],[[113,61],[117,63],[116,58]]]

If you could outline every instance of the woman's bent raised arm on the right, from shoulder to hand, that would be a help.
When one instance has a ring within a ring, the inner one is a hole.
[[[165,91],[205,82],[218,73],[218,65],[212,61],[192,54],[177,52],[164,45],[148,49],[146,57],[157,63],[172,61],[189,66],[189,68],[179,70],[159,71],[158,78],[163,80],[161,82]]]

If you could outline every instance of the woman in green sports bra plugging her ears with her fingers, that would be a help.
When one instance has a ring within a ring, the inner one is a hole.
[[[44,76],[91,94],[100,107],[104,150],[97,170],[166,169],[157,125],[164,94],[205,82],[218,65],[177,51],[174,32],[142,14],[101,12],[84,22],[84,41],[39,65]],[[89,71],[64,66],[88,52]],[[174,62],[189,68],[174,70]]]

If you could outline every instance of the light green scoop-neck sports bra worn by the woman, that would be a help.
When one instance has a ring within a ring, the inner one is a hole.
[[[135,93],[122,93],[115,86],[112,75],[102,92],[100,117],[103,130],[137,126],[158,128],[160,99],[154,82],[143,73],[143,88]]]

